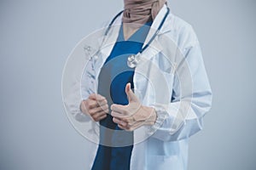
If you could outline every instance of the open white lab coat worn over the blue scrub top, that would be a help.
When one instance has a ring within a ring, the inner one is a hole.
[[[161,8],[145,42],[154,34],[154,28],[160,25],[166,10],[166,5]],[[110,29],[106,37],[105,44],[108,45],[103,45],[104,48],[95,56],[96,64],[85,69],[87,73],[83,74],[81,82],[83,99],[87,99],[91,93],[96,93],[94,89],[97,86],[98,73],[118,37],[121,18],[122,16],[119,16],[113,23],[117,30]],[[202,129],[202,118],[212,105],[212,91],[201,48],[192,27],[172,13],[168,14],[152,46],[154,48],[143,52],[143,59],[135,69],[133,82],[135,94],[142,104],[154,107],[158,121],[164,122],[153,127],[144,126],[134,132],[137,142],[131,154],[131,170],[185,170],[188,161],[188,139]],[[174,46],[176,48],[173,48]],[[177,56],[183,56],[185,62]],[[90,62],[93,62],[91,60],[93,59],[90,59]],[[97,74],[93,75],[93,71]],[[81,98],[74,97],[74,91],[79,91],[79,86],[73,88],[71,95],[64,97],[67,111],[73,115],[73,120],[81,124],[90,122],[87,132],[90,132],[91,139],[98,141],[96,135],[93,137],[93,133],[98,133],[98,123],[92,122],[88,116],[81,113]],[[98,144],[89,140],[85,143],[84,169],[90,169]]]

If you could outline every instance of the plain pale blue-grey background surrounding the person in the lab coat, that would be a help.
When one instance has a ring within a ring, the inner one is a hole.
[[[212,110],[190,139],[189,170],[256,169],[254,0],[173,0],[194,26]],[[84,169],[84,138],[68,122],[61,71],[79,40],[122,0],[0,1],[0,169]]]

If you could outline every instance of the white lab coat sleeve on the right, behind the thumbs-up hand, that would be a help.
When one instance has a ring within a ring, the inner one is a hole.
[[[184,61],[178,63],[173,78],[172,99],[167,107],[153,105],[157,120],[149,127],[152,137],[164,141],[187,139],[202,129],[203,116],[212,105],[212,90],[201,55],[200,44],[194,38],[184,54]],[[183,71],[189,68],[188,71]],[[177,76],[178,75],[178,76]],[[186,85],[191,83],[188,90]],[[181,85],[183,84],[183,85]]]

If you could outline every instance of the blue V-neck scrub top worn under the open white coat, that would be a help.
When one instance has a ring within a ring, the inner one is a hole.
[[[131,54],[137,54],[143,48],[152,21],[140,27],[129,39],[125,41],[123,25],[120,26],[119,37],[113,46],[111,54],[102,66],[99,75],[98,94],[106,97],[108,105],[128,105],[125,94],[125,86],[131,82],[133,88],[134,69],[127,66],[127,58]],[[123,133],[107,132],[108,127],[114,130],[120,129],[113,122],[110,112],[107,118],[100,121],[100,144],[92,170],[129,170],[131,151],[133,148],[133,132]],[[103,144],[120,145],[122,147],[111,147]]]

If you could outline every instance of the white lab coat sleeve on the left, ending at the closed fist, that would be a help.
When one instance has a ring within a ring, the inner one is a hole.
[[[99,26],[101,29],[96,32],[95,37],[94,34],[91,34],[84,39],[84,48],[90,48],[91,51],[85,51],[85,57],[78,60],[76,65],[73,65],[73,70],[78,69],[79,71],[73,71],[76,73],[71,77],[71,82],[73,83],[68,90],[69,93],[64,99],[64,104],[68,114],[71,114],[78,122],[91,121],[90,116],[85,115],[80,110],[80,104],[82,100],[88,99],[90,94],[96,94],[96,71],[92,64],[94,60],[91,54],[95,54],[98,44],[93,40],[103,36],[106,26],[107,23],[103,23],[102,26]]]

